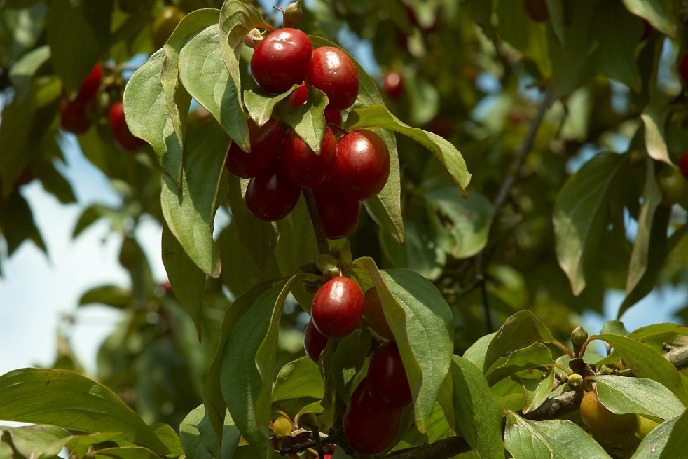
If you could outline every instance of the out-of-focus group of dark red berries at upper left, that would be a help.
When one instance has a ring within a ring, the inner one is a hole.
[[[91,127],[91,113],[97,111],[96,95],[103,79],[103,67],[95,64],[91,73],[84,78],[74,100],[62,97],[60,103],[60,124],[62,129],[74,134],[83,134]],[[123,150],[135,151],[146,142],[139,139],[129,130],[124,118],[124,109],[121,101],[111,104],[108,109],[108,118],[112,136],[116,144]]]

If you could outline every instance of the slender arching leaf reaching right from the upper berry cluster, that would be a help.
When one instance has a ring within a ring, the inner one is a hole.
[[[346,130],[383,128],[406,135],[431,151],[446,167],[457,186],[465,195],[465,189],[471,180],[466,163],[461,153],[447,140],[439,135],[418,128],[411,128],[399,121],[384,105],[372,104],[365,108],[350,111],[344,125]]]

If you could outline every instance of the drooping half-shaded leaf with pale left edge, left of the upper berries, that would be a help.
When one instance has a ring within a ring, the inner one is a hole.
[[[217,277],[221,263],[212,229],[229,139],[212,118],[188,137],[182,188],[163,176],[160,202],[170,231],[198,268]]]

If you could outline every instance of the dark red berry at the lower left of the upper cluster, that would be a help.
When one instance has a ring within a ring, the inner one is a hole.
[[[281,167],[273,167],[249,180],[246,207],[263,221],[277,221],[294,209],[301,189]]]

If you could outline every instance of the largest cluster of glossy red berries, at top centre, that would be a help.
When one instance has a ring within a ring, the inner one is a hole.
[[[308,100],[309,86],[322,90],[329,102],[326,121],[340,131],[342,111],[358,95],[359,79],[351,58],[338,48],[313,50],[312,42],[298,29],[285,27],[268,34],[256,46],[250,63],[258,85],[269,93],[289,95],[291,108]],[[355,228],[360,201],[379,193],[390,174],[390,153],[374,132],[357,130],[337,140],[326,128],[320,154],[294,130],[270,118],[259,126],[249,120],[250,151],[236,144],[228,151],[227,169],[250,179],[246,205],[263,221],[286,217],[301,189],[312,189],[328,238],[343,238]]]

